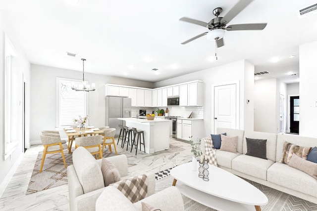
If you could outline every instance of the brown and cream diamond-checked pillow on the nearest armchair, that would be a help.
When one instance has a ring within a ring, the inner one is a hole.
[[[146,174],[124,179],[110,185],[121,191],[132,203],[136,203],[148,196],[148,181]]]

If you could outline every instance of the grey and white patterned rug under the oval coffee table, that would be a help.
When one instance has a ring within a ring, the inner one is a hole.
[[[173,177],[169,174],[170,169],[156,173],[156,192],[172,185]],[[268,199],[268,204],[261,206],[262,211],[317,211],[317,205],[281,191],[269,188],[251,180],[252,185],[261,190]],[[177,186],[177,185],[176,185]],[[182,195],[186,211],[216,211],[206,207],[190,198]]]

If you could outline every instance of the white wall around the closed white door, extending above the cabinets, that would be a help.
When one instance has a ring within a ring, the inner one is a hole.
[[[246,76],[249,75],[249,76]],[[252,75],[252,76],[251,76]],[[253,87],[245,87],[245,85],[252,86],[253,82],[245,83],[254,76],[254,66],[245,60],[240,60],[226,65],[197,71],[195,73],[186,74],[180,77],[164,80],[155,83],[155,87],[165,85],[184,83],[193,80],[202,80],[204,82],[204,126],[205,135],[210,136],[213,130],[213,120],[211,120],[211,86],[212,84],[219,84],[224,82],[240,81],[240,129],[244,127],[253,126],[253,118],[246,117],[250,113],[250,107],[245,108],[245,97],[252,99],[253,93],[248,92],[247,89],[253,90]],[[245,115],[246,113],[246,115]]]

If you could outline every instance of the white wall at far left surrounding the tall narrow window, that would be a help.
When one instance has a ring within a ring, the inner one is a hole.
[[[4,34],[6,34],[13,44],[17,56],[12,60],[12,79],[11,79],[11,122],[14,127],[11,128],[12,140],[17,141],[17,148],[11,154],[11,159],[4,160]],[[30,63],[27,60],[18,39],[15,37],[15,32],[11,29],[5,17],[0,12],[0,80],[1,80],[1,93],[0,93],[0,182],[3,181],[6,174],[9,172],[11,167],[16,161],[21,158],[24,149],[22,145],[22,104],[20,101],[23,100],[23,77],[30,82]],[[29,85],[26,87],[29,89]],[[30,96],[26,96],[26,108],[29,108],[28,104]],[[29,117],[29,110],[26,111],[26,116]],[[28,136],[29,119],[26,119],[26,142],[29,142]]]

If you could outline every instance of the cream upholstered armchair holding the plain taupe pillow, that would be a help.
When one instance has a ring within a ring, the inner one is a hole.
[[[96,160],[84,147],[78,147],[72,156],[73,165],[67,167],[70,211],[95,211],[96,201],[105,190],[102,159]],[[106,159],[118,169],[121,180],[130,177],[125,155]],[[148,196],[151,196],[155,193],[155,174],[147,176]]]

